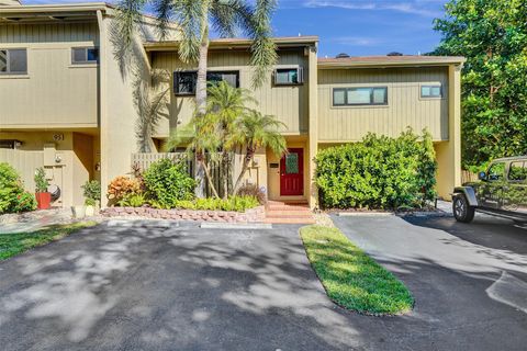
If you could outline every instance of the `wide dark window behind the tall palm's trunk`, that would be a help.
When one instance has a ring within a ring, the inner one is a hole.
[[[198,72],[195,70],[173,72],[173,92],[177,95],[194,95],[197,80]],[[210,71],[206,72],[206,80],[209,84],[226,81],[231,86],[239,88],[239,71]]]

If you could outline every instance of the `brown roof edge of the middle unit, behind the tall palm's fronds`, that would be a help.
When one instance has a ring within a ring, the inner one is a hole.
[[[318,36],[282,36],[273,37],[272,41],[279,47],[301,47],[307,45],[316,45]],[[253,44],[248,38],[216,38],[210,42],[210,48],[248,48]],[[148,52],[164,52],[177,49],[179,42],[147,42],[144,44]]]

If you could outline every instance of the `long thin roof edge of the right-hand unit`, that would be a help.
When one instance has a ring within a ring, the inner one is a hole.
[[[355,56],[343,58],[318,58],[318,68],[367,68],[367,67],[416,67],[448,66],[463,64],[461,56]]]

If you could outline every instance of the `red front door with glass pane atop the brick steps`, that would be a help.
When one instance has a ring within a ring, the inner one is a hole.
[[[280,195],[304,194],[304,149],[289,149],[280,160]]]

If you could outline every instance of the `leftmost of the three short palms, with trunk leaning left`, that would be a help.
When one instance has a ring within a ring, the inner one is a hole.
[[[197,156],[195,161],[203,169],[204,178],[215,197],[220,197],[220,195],[212,181],[209,161],[217,159],[217,150],[222,145],[218,135],[217,124],[213,118],[209,115],[194,115],[184,127],[172,131],[164,145],[166,151],[183,144],[187,145],[187,152]],[[209,160],[206,155],[209,155]]]

